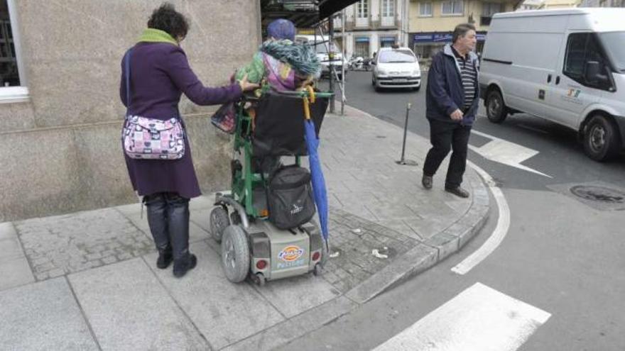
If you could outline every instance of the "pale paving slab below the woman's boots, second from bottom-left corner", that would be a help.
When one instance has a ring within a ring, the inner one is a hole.
[[[141,258],[68,278],[102,350],[210,347]]]

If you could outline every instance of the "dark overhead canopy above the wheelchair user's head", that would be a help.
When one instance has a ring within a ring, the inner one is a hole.
[[[312,28],[358,0],[260,0],[263,28],[286,18],[298,28]]]

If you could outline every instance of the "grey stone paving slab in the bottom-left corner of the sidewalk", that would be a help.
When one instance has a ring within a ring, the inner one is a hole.
[[[3,350],[99,350],[65,278],[1,291],[0,321]]]

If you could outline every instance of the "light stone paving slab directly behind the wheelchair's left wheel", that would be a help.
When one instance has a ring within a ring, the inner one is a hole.
[[[184,279],[175,279],[171,269],[154,273],[212,347],[221,349],[286,319],[251,285],[228,282],[219,255],[206,243],[195,243],[191,251],[198,264]],[[156,253],[146,260],[154,269]]]

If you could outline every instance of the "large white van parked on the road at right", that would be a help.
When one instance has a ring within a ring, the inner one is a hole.
[[[531,113],[577,130],[603,161],[625,145],[625,9],[497,13],[479,72],[487,116]]]

